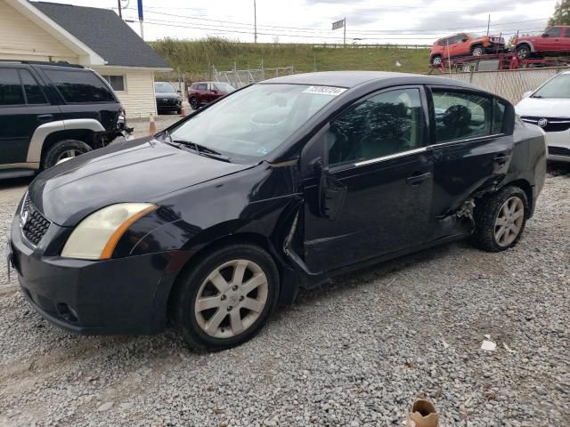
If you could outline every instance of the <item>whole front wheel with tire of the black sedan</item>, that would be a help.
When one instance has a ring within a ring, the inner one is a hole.
[[[175,320],[197,350],[224,350],[252,338],[275,308],[280,287],[271,255],[246,244],[208,254],[180,280]]]

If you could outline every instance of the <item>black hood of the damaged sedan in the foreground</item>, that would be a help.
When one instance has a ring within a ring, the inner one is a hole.
[[[72,227],[87,214],[160,196],[250,168],[145,138],[111,144],[40,173],[28,189],[45,217]]]

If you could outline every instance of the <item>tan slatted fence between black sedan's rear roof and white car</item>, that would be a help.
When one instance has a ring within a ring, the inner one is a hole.
[[[444,75],[482,87],[513,103],[523,99],[523,94],[538,88],[550,77],[568,68],[525,68],[504,71],[476,71]]]

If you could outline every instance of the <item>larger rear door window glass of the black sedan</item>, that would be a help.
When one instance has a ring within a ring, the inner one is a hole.
[[[493,102],[471,93],[434,90],[436,142],[468,140],[491,134]]]

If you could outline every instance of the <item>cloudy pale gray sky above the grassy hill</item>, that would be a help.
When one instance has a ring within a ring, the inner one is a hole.
[[[60,0],[58,3],[117,9],[118,0]],[[136,0],[124,1],[126,20],[137,20]],[[253,0],[143,0],[144,38],[197,39],[224,36],[253,42]],[[540,32],[555,0],[256,0],[259,42],[342,43],[343,30],[330,29],[346,17],[346,41],[431,44],[458,31],[505,38]],[[131,24],[139,32],[139,25]]]

